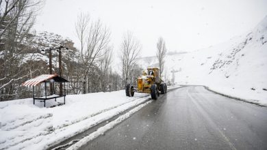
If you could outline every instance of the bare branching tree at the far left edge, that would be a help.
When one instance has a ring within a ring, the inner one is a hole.
[[[1,100],[21,93],[21,82],[38,71],[30,59],[27,65],[23,60],[30,50],[30,30],[41,4],[41,0],[0,0]]]

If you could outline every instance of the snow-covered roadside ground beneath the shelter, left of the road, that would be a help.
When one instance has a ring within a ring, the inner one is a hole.
[[[47,100],[47,108],[31,98],[0,102],[0,149],[47,149],[149,99],[146,93],[126,97],[121,90],[67,95],[65,105],[53,108],[63,99]]]

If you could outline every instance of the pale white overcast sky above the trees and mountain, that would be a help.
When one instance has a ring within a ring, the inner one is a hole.
[[[142,55],[155,55],[158,37],[169,51],[206,48],[253,29],[267,15],[267,0],[47,0],[36,31],[69,37],[78,46],[75,22],[80,12],[100,19],[112,32],[114,50],[131,31]]]

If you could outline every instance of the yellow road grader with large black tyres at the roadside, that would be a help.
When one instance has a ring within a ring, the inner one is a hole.
[[[167,85],[160,78],[160,70],[157,67],[147,68],[147,72],[143,72],[142,76],[138,76],[137,87],[128,84],[125,88],[125,93],[129,97],[133,97],[134,92],[151,93],[152,100],[157,100],[160,93],[167,93]]]

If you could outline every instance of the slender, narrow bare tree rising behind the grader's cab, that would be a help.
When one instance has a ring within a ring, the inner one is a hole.
[[[166,45],[162,37],[157,41],[157,60],[159,61],[160,76],[164,70],[164,57],[166,56]]]

